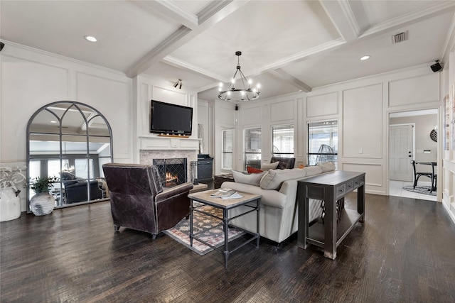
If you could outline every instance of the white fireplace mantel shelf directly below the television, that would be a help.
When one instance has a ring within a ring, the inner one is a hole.
[[[199,150],[198,138],[139,136],[140,150]]]

